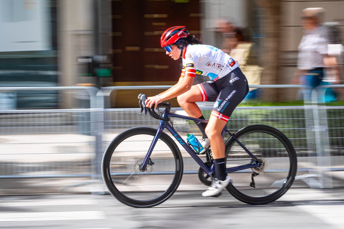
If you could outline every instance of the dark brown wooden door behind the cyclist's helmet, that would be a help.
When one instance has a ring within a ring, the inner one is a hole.
[[[114,82],[177,81],[181,59],[160,47],[164,30],[185,25],[200,35],[198,0],[112,0]]]

